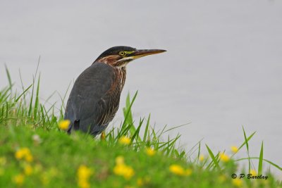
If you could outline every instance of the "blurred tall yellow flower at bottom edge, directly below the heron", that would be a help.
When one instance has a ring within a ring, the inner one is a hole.
[[[85,165],[80,165],[78,168],[78,187],[89,188],[89,178],[92,175],[92,170]]]

